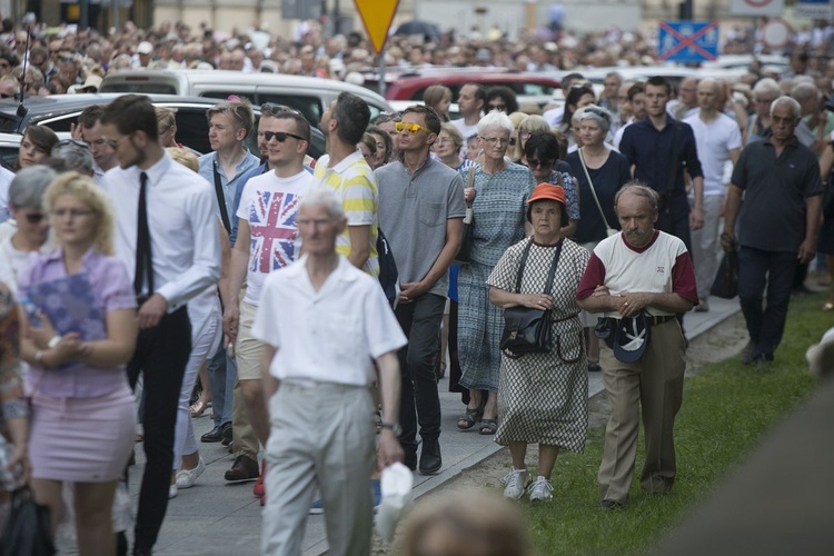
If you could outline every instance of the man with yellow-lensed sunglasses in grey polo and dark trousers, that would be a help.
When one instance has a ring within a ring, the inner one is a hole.
[[[435,361],[441,357],[438,332],[449,290],[448,269],[463,239],[464,182],[457,171],[429,156],[440,132],[440,118],[431,108],[408,107],[397,130],[399,159],[374,173],[379,182],[379,224],[388,235],[401,287],[395,314],[408,337],[408,345],[398,353],[403,375],[399,441],[409,468],[434,475],[443,466]]]

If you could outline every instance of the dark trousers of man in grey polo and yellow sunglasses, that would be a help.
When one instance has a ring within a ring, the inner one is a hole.
[[[446,298],[424,294],[410,304],[399,305],[395,311],[408,345],[399,357],[403,388],[399,403],[399,424],[403,434],[399,443],[406,454],[417,451],[417,423],[420,437],[436,439],[440,436],[440,396],[435,374],[436,357],[440,353],[443,308]]]

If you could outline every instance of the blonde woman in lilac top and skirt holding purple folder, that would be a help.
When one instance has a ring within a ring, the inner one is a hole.
[[[19,280],[40,309],[27,311],[21,341],[32,366],[31,486],[50,507],[54,533],[61,484],[72,483],[80,553],[112,555],[113,492],[136,426],[123,367],[136,345],[136,299],[112,255],[110,202],[92,179],[60,176],[44,207],[59,247],[34,259]]]

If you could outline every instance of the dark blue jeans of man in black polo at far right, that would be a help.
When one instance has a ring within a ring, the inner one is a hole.
[[[795,252],[752,247],[738,251],[738,300],[755,346],[754,356],[772,357],[782,341],[795,270]],[[765,282],[767,304],[763,306]]]

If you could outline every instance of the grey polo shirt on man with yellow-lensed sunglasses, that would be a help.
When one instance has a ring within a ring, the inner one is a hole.
[[[426,277],[446,245],[446,221],[464,218],[464,180],[428,157],[411,173],[396,160],[374,171],[379,185],[379,228],[388,238],[400,284]],[[429,294],[446,297],[448,274]]]

